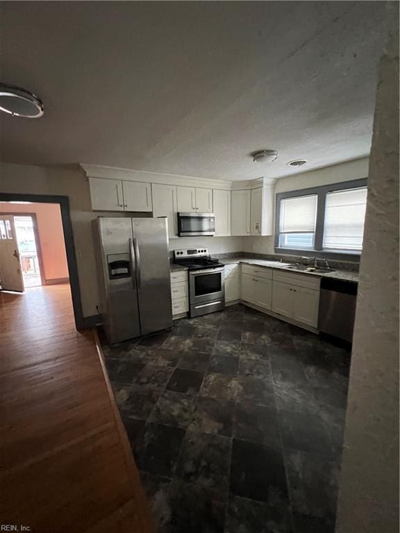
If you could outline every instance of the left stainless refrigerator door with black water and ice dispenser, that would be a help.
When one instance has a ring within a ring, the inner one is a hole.
[[[111,343],[140,335],[131,219],[99,218],[104,328]]]

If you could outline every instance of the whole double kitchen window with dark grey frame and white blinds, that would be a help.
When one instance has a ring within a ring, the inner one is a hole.
[[[360,254],[366,205],[366,179],[277,194],[275,249]]]

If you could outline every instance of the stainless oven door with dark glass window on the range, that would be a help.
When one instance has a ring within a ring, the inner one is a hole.
[[[224,300],[224,268],[189,271],[190,305]]]

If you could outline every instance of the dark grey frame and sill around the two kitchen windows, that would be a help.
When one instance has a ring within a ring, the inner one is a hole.
[[[318,187],[308,187],[306,189],[297,189],[288,192],[278,192],[275,199],[275,232],[274,232],[274,250],[276,253],[287,255],[302,255],[304,257],[331,257],[332,259],[341,259],[358,262],[360,261],[361,251],[328,251],[322,247],[324,240],[324,221],[325,221],[325,204],[326,195],[329,192],[344,191],[346,189],[358,189],[367,187],[367,178],[358,180],[344,181],[340,183],[331,183],[330,185],[319,185]],[[317,195],[317,217],[315,221],[315,239],[314,248],[280,248],[279,247],[279,220],[281,216],[281,200],[285,198],[298,198],[299,196]]]

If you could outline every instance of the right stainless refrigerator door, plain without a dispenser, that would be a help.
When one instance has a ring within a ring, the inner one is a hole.
[[[142,335],[172,327],[166,219],[132,219]]]

